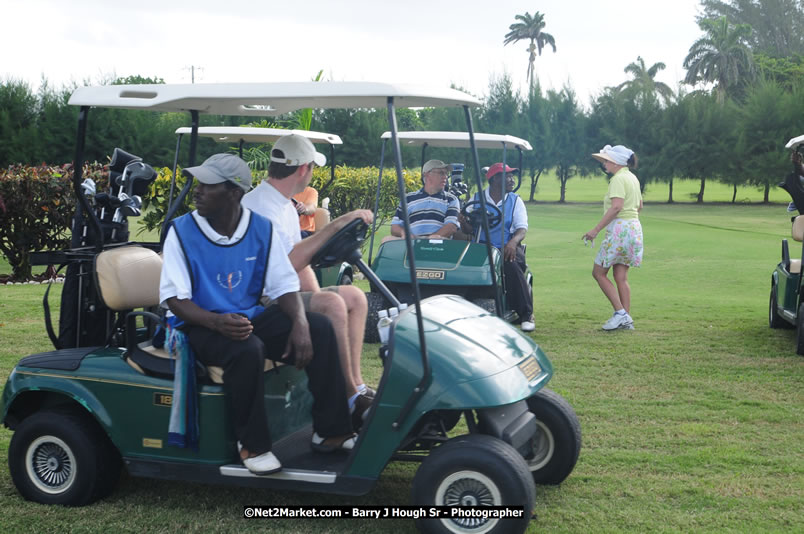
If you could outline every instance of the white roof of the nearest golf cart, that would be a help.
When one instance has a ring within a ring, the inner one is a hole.
[[[368,82],[143,84],[79,87],[73,106],[275,116],[304,108],[479,106],[455,89]]]

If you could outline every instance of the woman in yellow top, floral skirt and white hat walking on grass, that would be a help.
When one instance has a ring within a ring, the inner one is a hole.
[[[609,190],[603,197],[603,218],[583,235],[584,241],[594,241],[597,234],[606,229],[592,269],[592,276],[614,308],[614,315],[603,325],[603,330],[633,330],[628,268],[639,267],[642,263],[642,225],[639,224],[642,194],[639,180],[631,173],[637,166],[637,157],[623,145],[606,145],[592,157],[611,175]],[[608,278],[612,266],[617,287]]]

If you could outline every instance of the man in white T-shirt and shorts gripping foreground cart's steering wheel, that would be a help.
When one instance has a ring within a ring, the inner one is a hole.
[[[268,179],[247,193],[242,204],[271,219],[282,236],[289,257],[298,273],[303,302],[309,311],[326,315],[335,329],[341,356],[352,425],[358,430],[371,406],[374,392],[365,385],[360,371],[363,336],[368,314],[366,295],[354,286],[333,286],[322,291],[310,267],[313,254],[338,230],[355,218],[370,224],[369,210],[355,210],[338,217],[304,240],[299,230],[299,215],[291,197],[310,184],[316,165],[326,164],[326,157],[316,152],[306,137],[291,134],[279,138],[271,150]]]

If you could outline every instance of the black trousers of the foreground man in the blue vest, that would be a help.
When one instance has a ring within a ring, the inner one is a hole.
[[[313,360],[305,367],[313,394],[313,430],[322,437],[352,431],[346,386],[338,359],[335,332],[326,316],[307,312]],[[243,447],[262,454],[271,450],[271,433],[264,402],[265,358],[293,363],[291,351],[280,360],[292,323],[279,306],[270,306],[252,320],[254,330],[243,341],[229,339],[201,326],[185,328],[196,357],[223,368],[223,389],[233,410],[234,432]]]

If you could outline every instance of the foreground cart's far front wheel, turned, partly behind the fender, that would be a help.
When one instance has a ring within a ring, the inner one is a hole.
[[[581,424],[572,406],[558,393],[541,389],[528,399],[538,435],[525,455],[536,484],[560,484],[572,473],[581,452]]]

